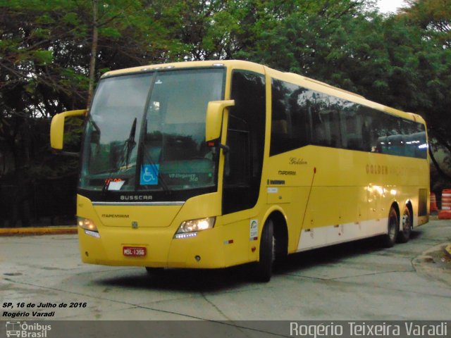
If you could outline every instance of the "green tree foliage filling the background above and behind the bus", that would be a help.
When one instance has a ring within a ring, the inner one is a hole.
[[[375,4],[0,0],[0,140],[20,156],[25,120],[85,108],[97,27],[96,81],[135,65],[240,58],[420,113],[451,150],[450,0],[412,0],[388,16]]]

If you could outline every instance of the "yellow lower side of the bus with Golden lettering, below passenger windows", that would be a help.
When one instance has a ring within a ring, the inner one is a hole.
[[[392,204],[400,213],[412,204],[414,225],[427,221],[418,216],[419,192],[428,189],[425,160],[305,146],[273,156],[269,163],[268,182],[285,185],[268,187],[268,192],[273,189],[273,203],[276,192],[281,195],[289,252],[384,234]],[[283,204],[285,189],[291,190],[290,204]]]

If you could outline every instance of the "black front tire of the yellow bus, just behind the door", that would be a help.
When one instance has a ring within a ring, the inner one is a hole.
[[[260,259],[254,268],[257,282],[269,282],[273,274],[274,261],[274,225],[272,220],[266,220],[260,239]]]

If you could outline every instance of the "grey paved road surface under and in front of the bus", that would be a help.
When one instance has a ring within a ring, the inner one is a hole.
[[[0,237],[1,320],[447,320],[449,242],[451,221],[433,220],[391,249],[371,239],[290,256],[259,284],[246,267],[85,265],[73,234]]]

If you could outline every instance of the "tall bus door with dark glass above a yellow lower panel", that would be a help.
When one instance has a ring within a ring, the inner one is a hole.
[[[252,228],[262,225],[252,211],[260,195],[261,171],[264,157],[266,88],[264,75],[245,70],[233,70],[223,173],[223,222],[226,239],[233,241],[226,249],[226,264],[243,263],[253,259],[250,240]],[[254,250],[254,255],[257,251]],[[257,256],[256,256],[257,257]]]

